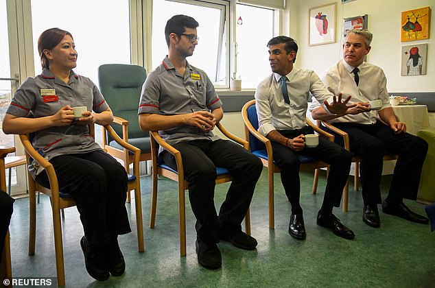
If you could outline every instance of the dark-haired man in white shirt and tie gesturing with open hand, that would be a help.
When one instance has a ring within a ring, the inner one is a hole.
[[[281,182],[292,204],[289,234],[305,239],[303,210],[299,203],[301,183],[298,156],[305,155],[330,164],[327,187],[317,224],[345,239],[353,239],[351,229],[341,224],[332,214],[333,207],[340,206],[342,191],[349,177],[351,155],[336,143],[319,136],[317,147],[305,146],[305,134],[314,134],[305,122],[309,93],[323,101],[333,95],[323,86],[313,71],[293,67],[298,45],[292,38],[278,36],[268,42],[272,74],[263,80],[255,91],[259,132],[272,141],[274,163],[281,170]],[[286,77],[286,78],[285,78]],[[334,99],[329,110],[339,113],[347,109],[349,98]]]

